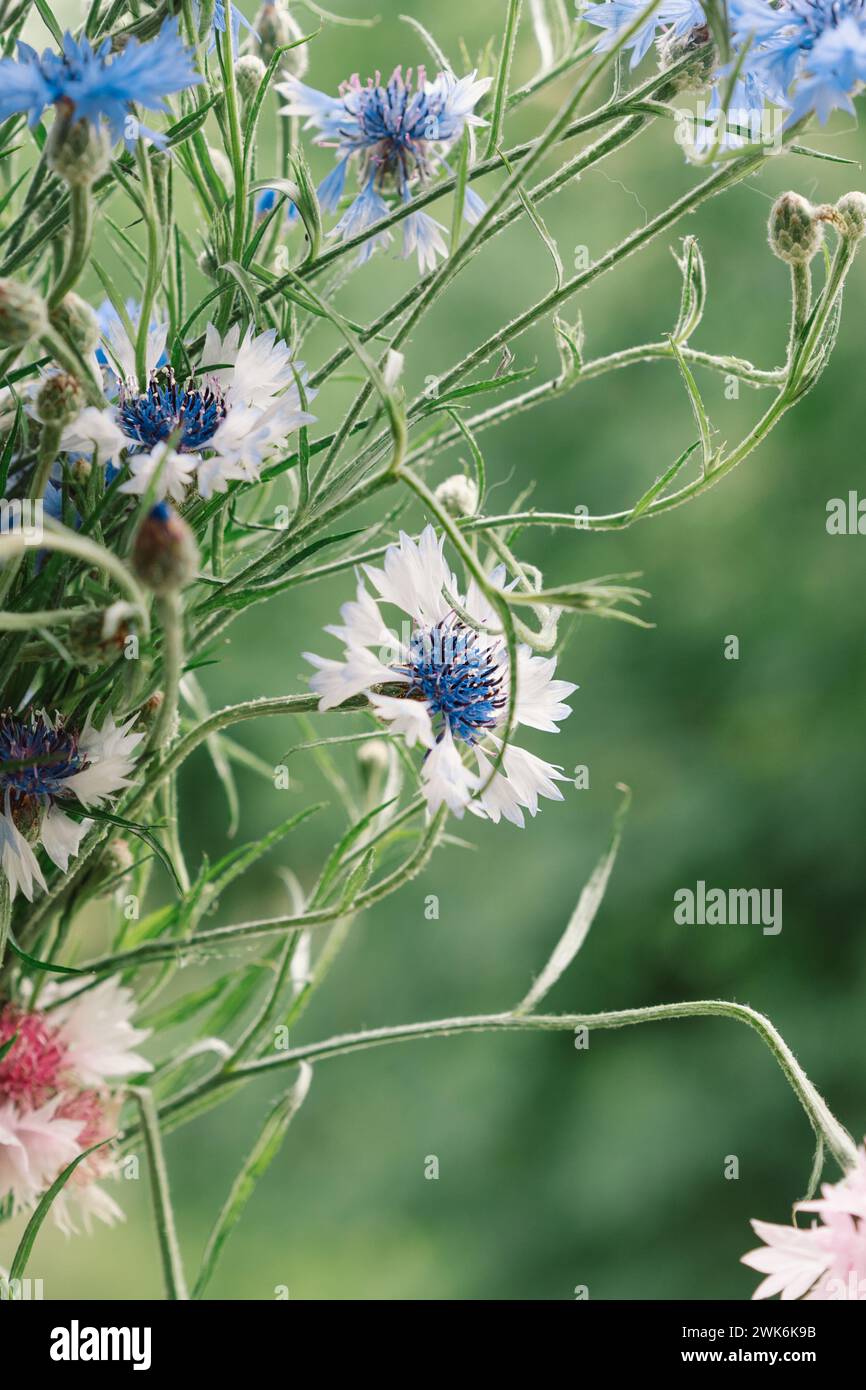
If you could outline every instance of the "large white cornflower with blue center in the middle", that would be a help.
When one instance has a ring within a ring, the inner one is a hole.
[[[534,816],[539,796],[562,801],[562,769],[513,745],[491,778],[507,721],[507,648],[485,631],[493,614],[474,581],[459,600],[461,613],[446,599],[443,591],[456,595],[457,581],[434,528],[418,542],[400,535],[384,567],[366,566],[366,573],[378,598],[359,581],[356,598],[341,609],[342,624],[327,630],[343,644],[343,660],[307,653],[317,667],[310,684],[320,709],[366,692],[393,734],[425,749],[421,781],[431,810],[445,803],[457,816],[468,808],[523,826],[524,810]],[[502,585],[505,570],[489,578]],[[409,614],[400,638],[386,627],[379,603]],[[553,659],[518,648],[516,724],[557,733],[577,687],[556,680],[555,670]]]

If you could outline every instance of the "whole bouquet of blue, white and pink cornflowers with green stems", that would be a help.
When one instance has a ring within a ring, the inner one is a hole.
[[[438,845],[471,837],[474,819],[517,834],[567,795],[570,619],[646,626],[646,595],[634,575],[587,574],[580,546],[574,571],[544,574],[527,553],[538,528],[623,531],[701,498],[827,368],[863,193],[773,203],[767,260],[791,286],[776,366],[692,345],[706,272],[680,227],[774,157],[812,186],[827,156],[810,132],[853,113],[866,83],[862,0],[489,0],[491,40],[460,61],[420,19],[386,21],[406,49],[392,72],[354,72],[345,25],[367,19],[313,0],[256,14],[92,0],[68,29],[47,3],[0,0],[0,1216],[26,1219],[4,1289],[15,1295],[46,1216],[71,1233],[122,1218],[122,1176],[143,1156],[167,1295],[202,1297],[317,1061],[713,1015],[758,1031],[817,1143],[801,1205],[820,1220],[755,1223],[758,1295],[862,1290],[866,1158],[769,1019],[719,999],[541,1011],[605,894],[627,794],[520,1004],[285,1044],[349,926]],[[320,86],[322,53],[345,56],[338,89]],[[517,110],[534,121],[523,143]],[[581,207],[581,174],[616,168],[663,122],[685,192],[569,272],[545,204]],[[517,221],[549,288],[430,377],[430,311]],[[677,235],[670,332],[589,356],[581,292]],[[405,260],[411,281],[359,321],[350,292],[373,257]],[[532,328],[557,352],[548,379],[525,353]],[[681,381],[688,443],[648,464],[638,496],[544,512],[532,460],[496,475],[493,427],[531,411],[544,431],[546,403],[646,361]],[[713,373],[763,404],[733,442],[701,393]],[[288,591],[303,605],[324,580],[343,603],[304,653],[307,684],[270,695],[250,670],[247,698],[213,709],[207,667],[235,620]],[[300,730],[345,826],[288,877],[282,915],[214,920],[227,888],[321,809],[295,805],[264,838],[190,862],[188,759],[211,760],[232,834],[235,764],[289,785],[285,758],[245,748],[247,720]],[[83,930],[97,899],[113,922],[101,941]],[[271,1111],[190,1275],[163,1136],[263,1076]],[[824,1161],[841,1176],[815,1198]]]

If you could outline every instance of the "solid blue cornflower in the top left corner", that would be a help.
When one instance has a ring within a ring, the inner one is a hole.
[[[104,120],[114,142],[126,138],[132,103],[165,111],[165,97],[203,78],[193,56],[168,19],[150,43],[131,39],[121,53],[111,53],[111,39],[93,49],[88,39],[67,33],[63,53],[46,49],[42,56],[18,43],[18,58],[0,60],[0,121],[22,111],[36,125],[49,106],[63,106],[76,121],[99,125]],[[146,126],[139,132],[156,145],[163,136]]]

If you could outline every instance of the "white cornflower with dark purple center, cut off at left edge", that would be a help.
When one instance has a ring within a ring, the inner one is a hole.
[[[33,845],[64,873],[92,821],[74,820],[64,806],[101,806],[129,785],[133,751],[145,737],[131,733],[136,716],[101,728],[90,716],[78,730],[44,710],[19,719],[0,716],[0,866],[11,894],[33,898],[44,877]]]

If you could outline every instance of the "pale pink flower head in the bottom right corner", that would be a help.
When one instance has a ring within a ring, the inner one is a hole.
[[[826,1183],[815,1201],[796,1211],[816,1212],[808,1229],[753,1220],[765,1241],[742,1264],[765,1275],[752,1298],[866,1300],[866,1148],[840,1183]]]

